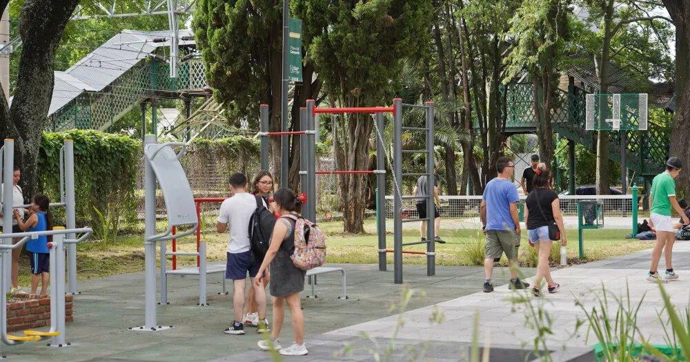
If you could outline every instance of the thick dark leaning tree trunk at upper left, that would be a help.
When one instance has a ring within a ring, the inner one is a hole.
[[[10,122],[1,125],[4,137],[14,139],[15,163],[22,171],[25,194],[36,192],[36,171],[41,135],[48,120],[48,109],[55,83],[52,63],[63,30],[78,0],[27,0],[20,14],[19,36],[22,51]]]

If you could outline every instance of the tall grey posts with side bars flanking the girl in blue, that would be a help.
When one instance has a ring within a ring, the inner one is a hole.
[[[12,174],[14,172],[14,140],[5,139],[2,146],[3,153],[3,174],[2,183],[4,185],[12,185]],[[60,148],[60,202],[50,203],[51,208],[65,208],[66,211],[66,225],[68,229],[76,228],[76,203],[75,203],[75,142],[71,139],[66,139],[62,148]],[[12,200],[12,188],[4,188],[3,200]],[[28,208],[30,205],[12,205],[12,203],[3,203],[2,212],[3,230],[12,230],[12,209]],[[74,239],[73,234],[67,236],[68,239]],[[11,244],[11,239],[4,239],[3,243]],[[12,285],[10,278],[12,277],[12,254],[5,253],[4,258],[4,277],[7,279],[6,285],[8,288]],[[67,247],[67,270],[68,270],[68,290],[69,294],[78,294],[77,291],[77,245],[70,243]],[[3,290],[8,292],[9,289]]]

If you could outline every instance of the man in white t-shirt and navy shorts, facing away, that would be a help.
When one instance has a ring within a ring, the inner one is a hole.
[[[224,332],[227,334],[244,334],[242,316],[244,315],[244,285],[247,273],[252,281],[250,288],[254,288],[254,296],[259,307],[259,323],[257,332],[269,332],[266,320],[266,290],[253,283],[259,272],[257,263],[251,252],[249,240],[249,219],[257,208],[257,201],[253,194],[246,192],[247,177],[242,173],[230,176],[230,192],[233,197],[223,201],[220,205],[216,228],[218,232],[226,232],[230,224],[230,240],[228,241],[228,264],[226,279],[233,279],[235,292],[233,294],[233,312],[235,320]]]

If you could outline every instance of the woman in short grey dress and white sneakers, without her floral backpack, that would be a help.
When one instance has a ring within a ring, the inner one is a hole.
[[[295,223],[302,216],[302,198],[296,197],[295,192],[282,188],[273,194],[275,211],[282,217],[275,223],[273,235],[270,239],[268,252],[259,268],[259,274],[270,265],[270,296],[273,301],[273,330],[270,340],[259,341],[262,350],[279,350],[286,356],[303,356],[307,354],[304,345],[304,316],[299,300],[299,292],[304,290],[304,276],[306,271],[299,269],[293,263],[291,255],[295,250]],[[255,283],[262,283],[262,278],[255,279]],[[285,318],[284,303],[290,308],[290,316],[295,334],[295,343],[288,348],[281,348],[279,342],[280,330]]]

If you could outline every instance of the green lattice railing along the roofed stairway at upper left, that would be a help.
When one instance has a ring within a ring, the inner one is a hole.
[[[83,92],[50,117],[49,129],[107,130],[113,122],[156,91],[201,89],[206,86],[204,64],[198,59],[181,63],[178,77],[170,78],[167,63],[140,61],[100,92]]]

